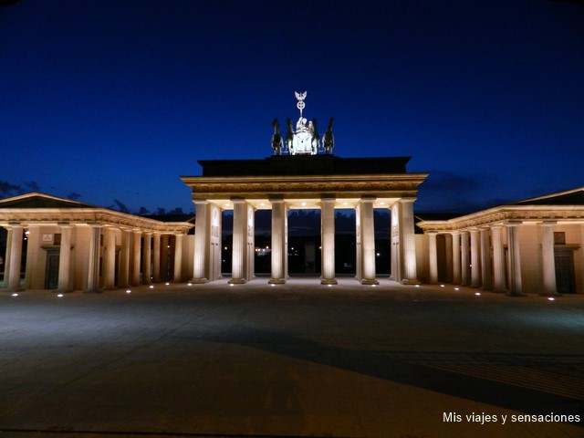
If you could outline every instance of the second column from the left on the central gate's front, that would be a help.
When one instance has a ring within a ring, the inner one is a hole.
[[[234,233],[233,233],[233,253],[232,253],[232,273],[230,284],[242,284],[250,280],[248,278],[247,265],[249,263],[249,253],[247,251],[247,228],[249,219],[249,208],[251,205],[245,199],[232,199],[234,203]]]

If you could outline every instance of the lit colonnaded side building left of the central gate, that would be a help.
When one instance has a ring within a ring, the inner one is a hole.
[[[4,290],[10,292],[95,293],[165,279],[181,282],[193,264],[186,238],[192,237],[193,224],[162,222],[45,193],[0,200],[0,227],[7,230],[0,267]]]

